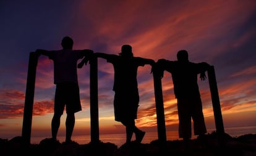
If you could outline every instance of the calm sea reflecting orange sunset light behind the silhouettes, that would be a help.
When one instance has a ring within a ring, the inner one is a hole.
[[[215,129],[207,129],[208,133],[215,131]],[[225,128],[225,132],[230,136],[238,137],[244,134],[256,134],[256,126],[245,126],[245,127],[236,127],[236,128]],[[166,131],[167,140],[180,140],[178,137],[178,131]],[[197,136],[192,135],[192,139],[197,138]],[[31,138],[32,144],[38,144],[44,137],[33,137]],[[65,136],[58,136],[60,142],[63,142]],[[132,140],[135,139],[133,135]],[[142,143],[147,144],[151,141],[158,139],[157,132],[146,132]],[[91,141],[90,135],[80,135],[72,136],[72,140],[79,144],[88,144]],[[111,142],[116,144],[118,147],[122,146],[126,142],[126,134],[100,134],[100,141],[102,142]]]

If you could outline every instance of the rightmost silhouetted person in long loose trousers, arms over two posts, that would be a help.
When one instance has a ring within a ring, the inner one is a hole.
[[[208,67],[210,65],[206,62],[190,62],[186,50],[177,52],[176,61],[160,59],[156,62],[154,71],[159,72],[162,77],[164,70],[172,75],[179,116],[179,138],[183,138],[185,142],[191,138],[191,118],[195,135],[203,136],[207,133],[197,75],[200,73],[200,79],[205,80]]]

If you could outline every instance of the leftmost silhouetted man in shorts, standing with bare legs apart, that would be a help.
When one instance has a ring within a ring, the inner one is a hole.
[[[90,58],[93,51],[90,49],[72,50],[73,39],[65,36],[61,41],[61,50],[46,51],[37,49],[39,55],[46,55],[54,63],[54,115],[51,121],[51,135],[57,139],[61,115],[66,105],[66,143],[72,142],[71,136],[75,125],[75,113],[82,110],[80,103],[79,83],[77,79],[77,61]]]

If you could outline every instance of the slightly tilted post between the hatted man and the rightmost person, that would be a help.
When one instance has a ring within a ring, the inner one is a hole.
[[[158,72],[153,72],[153,80],[155,89],[158,141],[160,143],[160,150],[164,151],[166,149],[166,128],[164,120],[162,83],[161,77],[158,75]]]

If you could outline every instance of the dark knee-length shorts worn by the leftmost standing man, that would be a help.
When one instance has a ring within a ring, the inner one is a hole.
[[[82,110],[78,83],[56,84],[54,113],[63,114],[66,105],[66,113],[75,113]]]

